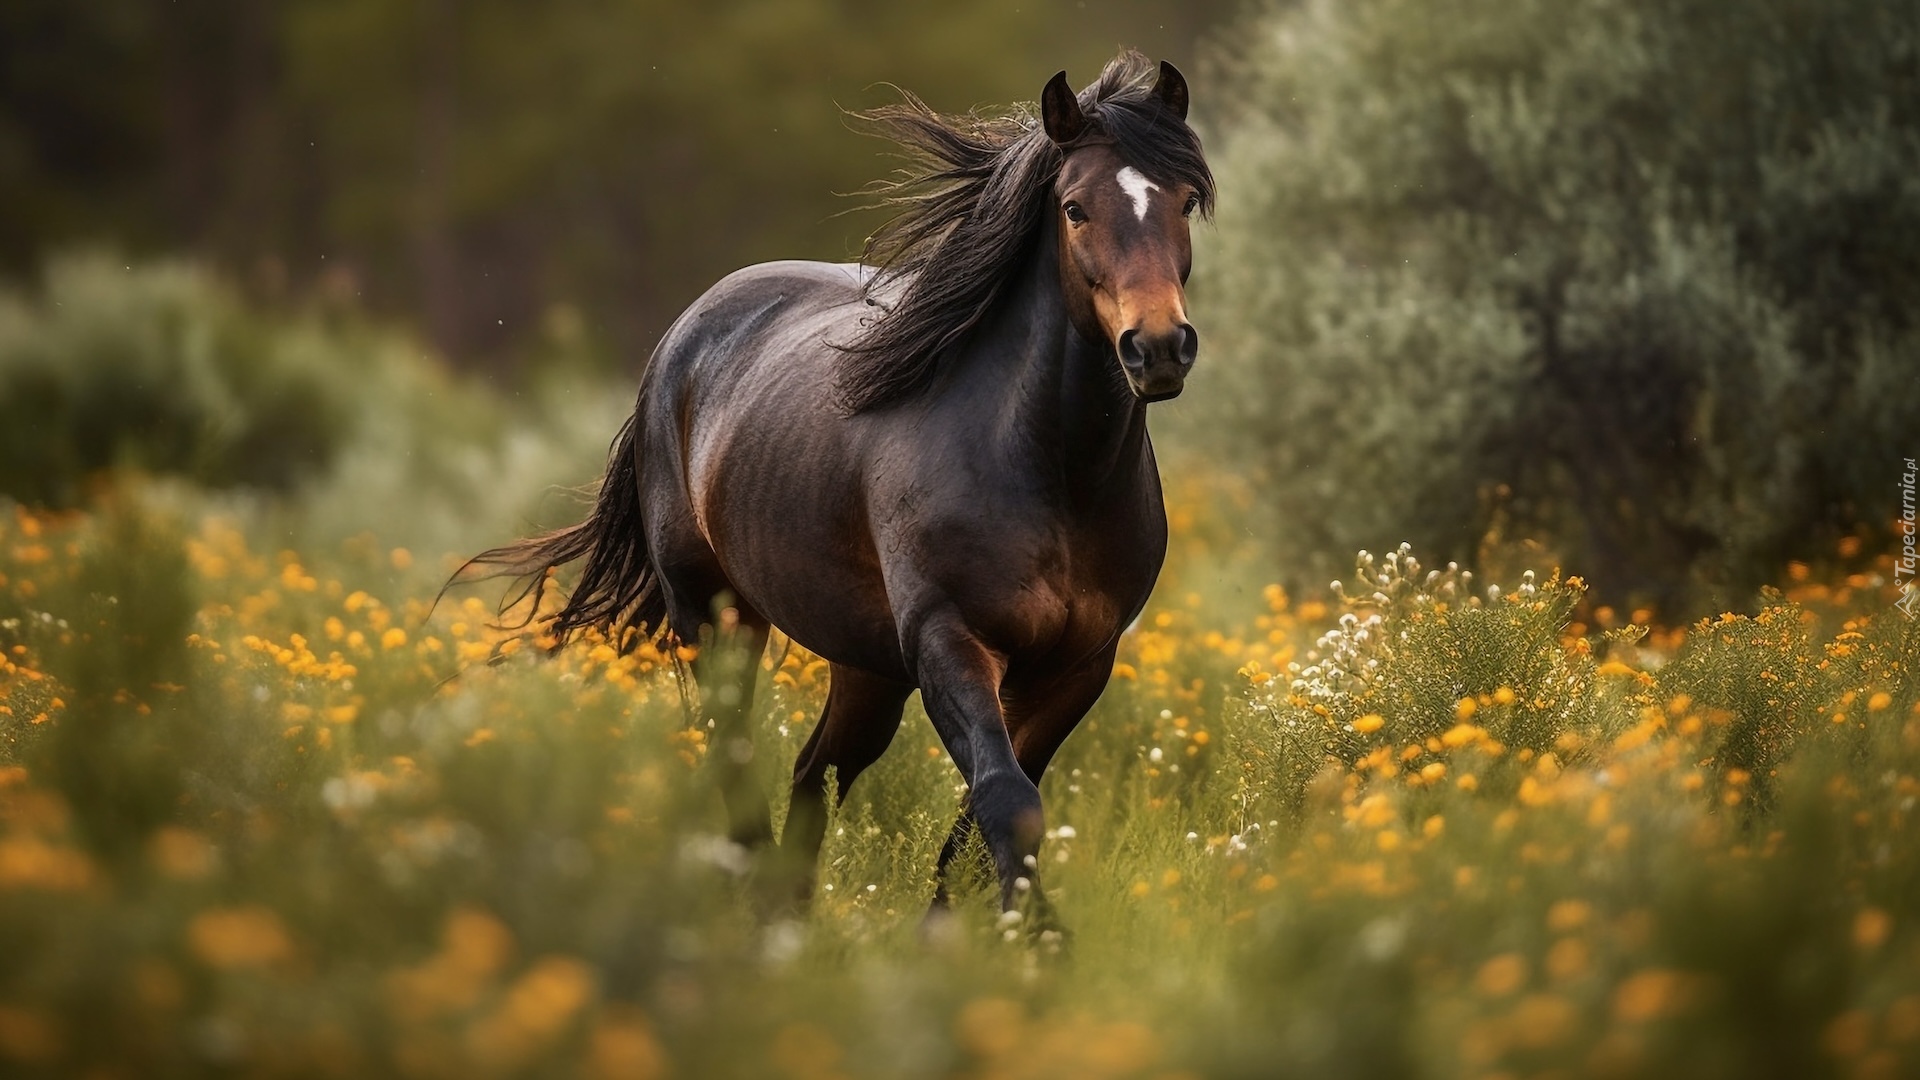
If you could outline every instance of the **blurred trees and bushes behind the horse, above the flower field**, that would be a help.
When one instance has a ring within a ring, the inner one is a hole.
[[[618,413],[726,271],[856,258],[876,219],[841,192],[891,161],[843,110],[889,83],[1004,108],[1131,44],[1188,71],[1221,179],[1206,371],[1160,409],[1164,461],[1263,577],[1325,584],[1411,540],[1740,607],[1895,534],[1916,8],[15,0],[0,486],[311,488],[367,432],[420,457],[530,415],[378,421],[411,400],[396,365]],[[399,469],[396,496],[432,482]]]

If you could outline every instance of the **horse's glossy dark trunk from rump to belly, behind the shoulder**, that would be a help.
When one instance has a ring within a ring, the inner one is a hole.
[[[902,676],[858,482],[864,425],[835,392],[837,346],[874,311],[870,273],[760,263],[695,300],[645,375],[639,482],[653,557],[682,567],[662,567],[670,584],[708,578],[693,590],[724,588],[820,655]]]

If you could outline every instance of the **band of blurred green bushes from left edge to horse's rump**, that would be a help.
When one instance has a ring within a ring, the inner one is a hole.
[[[451,552],[566,502],[551,484],[605,461],[630,388],[580,367],[555,363],[509,409],[351,309],[276,313],[196,265],[67,254],[40,290],[0,292],[0,492],[71,507],[127,471],[298,490],[232,509],[307,544],[378,525]]]

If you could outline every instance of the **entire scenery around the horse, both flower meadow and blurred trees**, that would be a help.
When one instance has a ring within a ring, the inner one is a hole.
[[[843,110],[1121,44],[1219,209],[1073,963],[922,936],[918,705],[768,919],[678,653],[442,584]],[[1916,300],[1920,0],[0,0],[0,1074],[1916,1076]]]

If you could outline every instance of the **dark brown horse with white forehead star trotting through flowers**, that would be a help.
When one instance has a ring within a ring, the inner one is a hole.
[[[486,552],[584,559],[553,632],[703,642],[735,840],[772,838],[747,707],[768,626],[831,663],[781,851],[808,888],[845,792],[918,688],[968,784],[1000,901],[1044,911],[1041,773],[1106,688],[1167,544],[1146,404],[1181,392],[1188,217],[1213,179],[1171,63],[1123,54],[1031,113],[864,113],[922,163],[870,263],[730,275],[660,340],[591,517]],[[538,598],[536,598],[538,601]],[[538,605],[538,603],[536,603]],[[733,646],[733,648],[724,648]]]

